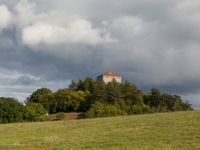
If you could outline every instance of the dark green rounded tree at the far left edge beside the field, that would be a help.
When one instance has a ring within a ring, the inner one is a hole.
[[[15,98],[0,97],[0,123],[23,122],[24,105]]]

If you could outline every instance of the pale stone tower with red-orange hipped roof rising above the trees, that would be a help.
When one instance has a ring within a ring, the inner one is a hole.
[[[111,82],[113,78],[118,82],[121,83],[122,77],[114,72],[108,71],[104,74],[97,77],[100,81],[104,81],[105,83]]]

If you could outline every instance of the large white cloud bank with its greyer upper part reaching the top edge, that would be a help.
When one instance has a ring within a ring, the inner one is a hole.
[[[27,0],[21,0],[15,6],[15,22],[22,31],[21,39],[26,45],[98,45],[118,42],[105,28],[94,28],[92,22],[81,15],[62,14],[53,10],[36,14],[35,8],[37,5]]]

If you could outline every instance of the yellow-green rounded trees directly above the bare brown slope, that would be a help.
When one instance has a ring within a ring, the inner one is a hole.
[[[57,92],[43,95],[38,102],[49,112],[86,111],[91,105],[89,91],[59,89]]]

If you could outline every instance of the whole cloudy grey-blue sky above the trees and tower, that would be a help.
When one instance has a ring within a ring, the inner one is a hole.
[[[0,97],[113,71],[200,108],[199,0],[0,0]]]

